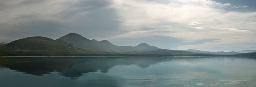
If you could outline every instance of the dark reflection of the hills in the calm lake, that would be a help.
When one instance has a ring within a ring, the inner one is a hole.
[[[138,65],[147,68],[163,58],[1,58],[0,66],[32,75],[60,72],[66,77],[80,77],[88,72],[108,72],[118,65]]]

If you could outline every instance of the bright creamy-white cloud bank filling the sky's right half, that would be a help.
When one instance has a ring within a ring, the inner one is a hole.
[[[115,0],[114,6],[118,7],[116,9],[118,9],[119,14],[125,19],[122,26],[130,31],[124,35],[130,38],[150,35],[171,36],[181,38],[184,42],[196,42],[200,39],[211,39],[214,37],[220,38],[221,40],[219,42],[207,43],[229,43],[228,40],[224,41],[222,39],[234,38],[239,33],[219,31],[215,28],[232,26],[233,28],[254,31],[256,25],[256,22],[252,21],[256,16],[256,12],[248,10],[248,12],[244,12],[244,9],[249,8],[246,6],[230,3],[221,4],[211,0],[169,0],[164,3],[162,1]],[[240,11],[242,9],[243,12]],[[199,24],[205,26],[196,26]],[[155,29],[153,32],[147,31],[152,30],[155,26],[164,26],[168,27],[168,29]],[[138,33],[131,33],[135,31],[142,32],[142,30],[147,31],[147,33],[139,33],[139,35]],[[160,30],[166,31],[160,32]],[[255,32],[242,32],[242,34],[246,36],[241,37],[247,37],[252,40],[253,38],[250,36],[254,36]],[[123,38],[123,36],[114,36],[109,37],[109,39],[116,39],[118,37]],[[243,41],[244,43],[249,43],[247,40]],[[187,49],[200,48],[198,46],[190,47],[187,45],[186,47]],[[228,47],[228,45],[225,46]],[[180,46],[180,48],[183,49],[183,46]],[[207,46],[203,50],[208,50]]]

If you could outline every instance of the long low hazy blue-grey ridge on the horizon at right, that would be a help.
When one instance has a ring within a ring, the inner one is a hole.
[[[184,51],[189,51],[189,52],[195,52],[195,53],[203,53],[203,54],[214,54],[214,55],[235,55],[239,54],[238,52],[230,51],[230,52],[224,52],[224,51],[217,51],[217,52],[212,52],[212,51],[200,51],[200,50],[194,50],[194,49],[188,49]]]

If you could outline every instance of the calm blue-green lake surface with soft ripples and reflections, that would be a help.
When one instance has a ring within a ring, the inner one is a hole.
[[[256,57],[8,57],[0,86],[256,87]]]

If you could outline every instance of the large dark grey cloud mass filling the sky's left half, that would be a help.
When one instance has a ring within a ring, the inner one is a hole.
[[[57,39],[70,32],[90,38],[127,32],[120,29],[122,21],[116,9],[110,7],[111,0],[10,0],[3,3],[0,29],[5,32],[0,36],[6,39],[27,36]]]

